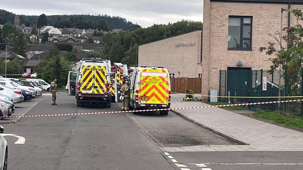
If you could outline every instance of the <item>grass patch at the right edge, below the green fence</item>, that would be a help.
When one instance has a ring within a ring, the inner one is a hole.
[[[257,113],[253,113],[252,115],[267,119],[273,120],[279,124],[285,124],[290,127],[299,127],[303,129],[303,118],[296,118],[296,117],[286,117],[279,115],[276,112],[269,112],[269,111],[260,111]]]

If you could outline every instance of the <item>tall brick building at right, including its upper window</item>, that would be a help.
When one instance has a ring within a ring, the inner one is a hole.
[[[275,42],[268,34],[280,31],[281,8],[303,9],[303,1],[204,0],[203,6],[202,95],[209,95],[219,89],[219,70],[270,69],[259,48]],[[283,12],[283,27],[296,23]]]

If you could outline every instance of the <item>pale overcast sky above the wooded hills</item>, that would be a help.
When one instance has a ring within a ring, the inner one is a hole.
[[[107,14],[142,27],[203,20],[202,0],[0,0],[0,9],[24,15]]]

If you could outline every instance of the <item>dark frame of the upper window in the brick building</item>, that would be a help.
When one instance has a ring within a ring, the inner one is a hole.
[[[252,50],[252,16],[237,16],[237,15],[229,15],[228,16],[228,20],[229,18],[240,18],[240,48],[229,48],[227,45],[227,49],[228,50],[248,50],[251,51]],[[250,24],[243,24],[243,19],[244,18],[250,18],[251,19],[251,23]],[[251,37],[250,38],[243,38],[243,26],[250,26],[251,27]],[[228,29],[229,29],[229,25],[228,25]],[[228,30],[227,30],[227,34],[228,34]],[[250,40],[250,48],[243,48],[243,40]]]

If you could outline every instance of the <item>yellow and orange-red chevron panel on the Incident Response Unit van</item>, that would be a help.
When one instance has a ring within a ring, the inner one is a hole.
[[[146,104],[166,104],[169,99],[169,84],[167,76],[141,76],[138,90],[138,100]],[[142,100],[147,96],[147,100]]]

